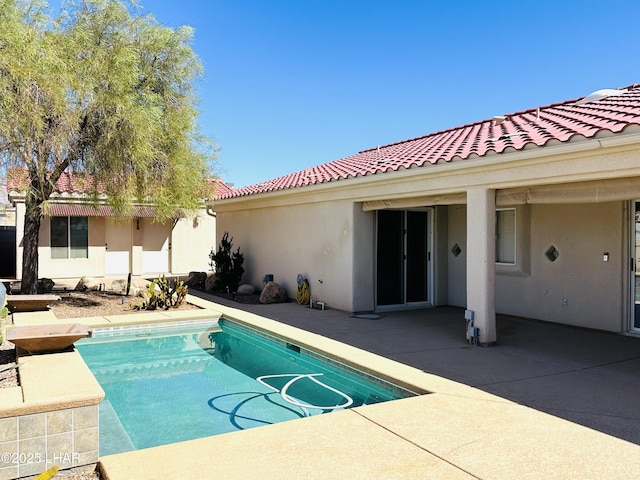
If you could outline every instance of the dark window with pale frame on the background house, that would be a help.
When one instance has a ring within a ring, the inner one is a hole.
[[[89,258],[88,217],[51,217],[51,258]]]

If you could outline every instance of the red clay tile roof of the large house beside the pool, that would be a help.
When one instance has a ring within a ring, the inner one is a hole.
[[[579,99],[494,117],[390,145],[291,173],[256,185],[220,191],[218,199],[376,175],[491,154],[619,133],[640,125],[640,84],[602,90]]]

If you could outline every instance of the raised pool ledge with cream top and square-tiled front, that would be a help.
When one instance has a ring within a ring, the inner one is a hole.
[[[18,361],[20,387],[0,389],[0,480],[97,463],[104,391],[80,354]]]

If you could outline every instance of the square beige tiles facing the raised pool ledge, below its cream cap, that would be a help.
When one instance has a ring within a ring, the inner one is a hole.
[[[0,480],[98,462],[98,405],[0,419]]]

